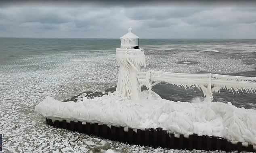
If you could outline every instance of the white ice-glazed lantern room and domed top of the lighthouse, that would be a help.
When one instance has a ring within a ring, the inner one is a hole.
[[[138,49],[138,36],[132,33],[132,28],[128,29],[128,33],[120,37],[122,49]]]

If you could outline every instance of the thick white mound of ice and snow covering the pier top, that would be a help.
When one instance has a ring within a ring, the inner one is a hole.
[[[221,102],[173,102],[143,91],[140,100],[127,100],[119,92],[78,102],[47,97],[36,111],[53,119],[79,120],[133,129],[158,128],[177,134],[214,135],[229,141],[256,144],[256,110]]]

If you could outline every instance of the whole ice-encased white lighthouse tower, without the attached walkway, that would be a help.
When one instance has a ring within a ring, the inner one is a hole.
[[[120,65],[116,91],[128,99],[138,99],[136,72],[140,71],[141,66],[146,66],[145,55],[138,47],[139,38],[132,33],[132,28],[120,39],[121,47],[116,49],[116,59]]]

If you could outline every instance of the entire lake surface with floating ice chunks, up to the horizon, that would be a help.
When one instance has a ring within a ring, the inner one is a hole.
[[[125,145],[44,124],[34,111],[46,96],[64,99],[83,90],[102,91],[116,85],[119,39],[0,38],[0,133],[6,151],[122,152],[152,148]],[[256,39],[140,39],[147,67],[181,73],[221,73],[256,77]],[[198,90],[159,84],[153,90],[174,101],[200,102]],[[256,96],[232,92],[214,100],[256,109]],[[175,151],[157,149],[158,151]]]

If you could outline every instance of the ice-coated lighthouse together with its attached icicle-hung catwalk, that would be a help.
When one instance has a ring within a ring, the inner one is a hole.
[[[142,86],[149,89],[150,99],[152,86],[160,82],[168,82],[185,89],[198,88],[203,91],[205,102],[212,102],[212,92],[220,92],[220,89],[232,92],[234,90],[237,93],[239,90],[256,93],[256,77],[140,71],[141,65],[146,64],[144,52],[138,48],[138,36],[129,28],[128,33],[120,39],[121,48],[116,49],[116,58],[120,65],[116,91],[121,92],[128,99],[138,99]]]

